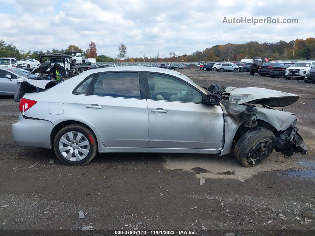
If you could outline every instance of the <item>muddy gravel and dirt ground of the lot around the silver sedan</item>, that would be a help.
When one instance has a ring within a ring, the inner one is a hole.
[[[113,230],[135,228],[147,234],[159,229],[315,235],[315,84],[248,72],[181,72],[203,86],[263,87],[299,95],[284,111],[297,115],[308,156],[285,159],[274,152],[261,165],[243,168],[232,156],[114,153],[71,167],[53,150],[15,145],[11,124],[18,103],[2,98],[0,206],[9,206],[0,208],[0,235],[115,235]],[[88,214],[79,219],[79,211]],[[80,231],[90,225],[94,231]]]

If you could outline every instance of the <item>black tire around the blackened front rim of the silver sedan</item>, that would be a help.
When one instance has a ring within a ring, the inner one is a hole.
[[[263,127],[256,127],[243,134],[234,147],[234,156],[238,162],[244,167],[254,166],[254,164],[248,162],[249,153],[253,147],[264,139],[270,139],[272,141],[271,151],[266,156],[268,157],[276,145],[276,136],[270,130]],[[256,164],[258,163],[261,163],[261,161]]]

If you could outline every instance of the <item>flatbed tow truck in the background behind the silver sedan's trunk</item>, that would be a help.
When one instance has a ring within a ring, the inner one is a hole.
[[[51,66],[54,66],[55,63],[58,63],[61,66],[63,66],[66,69],[66,77],[68,77],[69,75],[72,75],[72,74],[82,73],[82,72],[90,69],[90,66],[84,65],[85,64],[84,63],[85,57],[83,57],[83,61],[82,61],[83,65],[76,65],[72,61],[72,55],[69,55],[69,54],[63,54],[63,53],[44,54],[44,53],[41,53],[38,55],[39,55],[40,63],[50,62]],[[48,73],[50,68],[48,68],[46,73]]]

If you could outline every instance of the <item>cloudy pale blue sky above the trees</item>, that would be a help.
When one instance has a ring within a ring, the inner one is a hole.
[[[218,44],[315,37],[315,1],[0,0],[0,37],[21,50],[88,48],[115,57],[191,54]],[[297,18],[298,24],[222,24],[224,17]]]

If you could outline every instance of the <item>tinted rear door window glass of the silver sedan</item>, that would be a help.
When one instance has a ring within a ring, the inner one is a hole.
[[[101,74],[93,89],[97,96],[141,98],[138,72]]]

